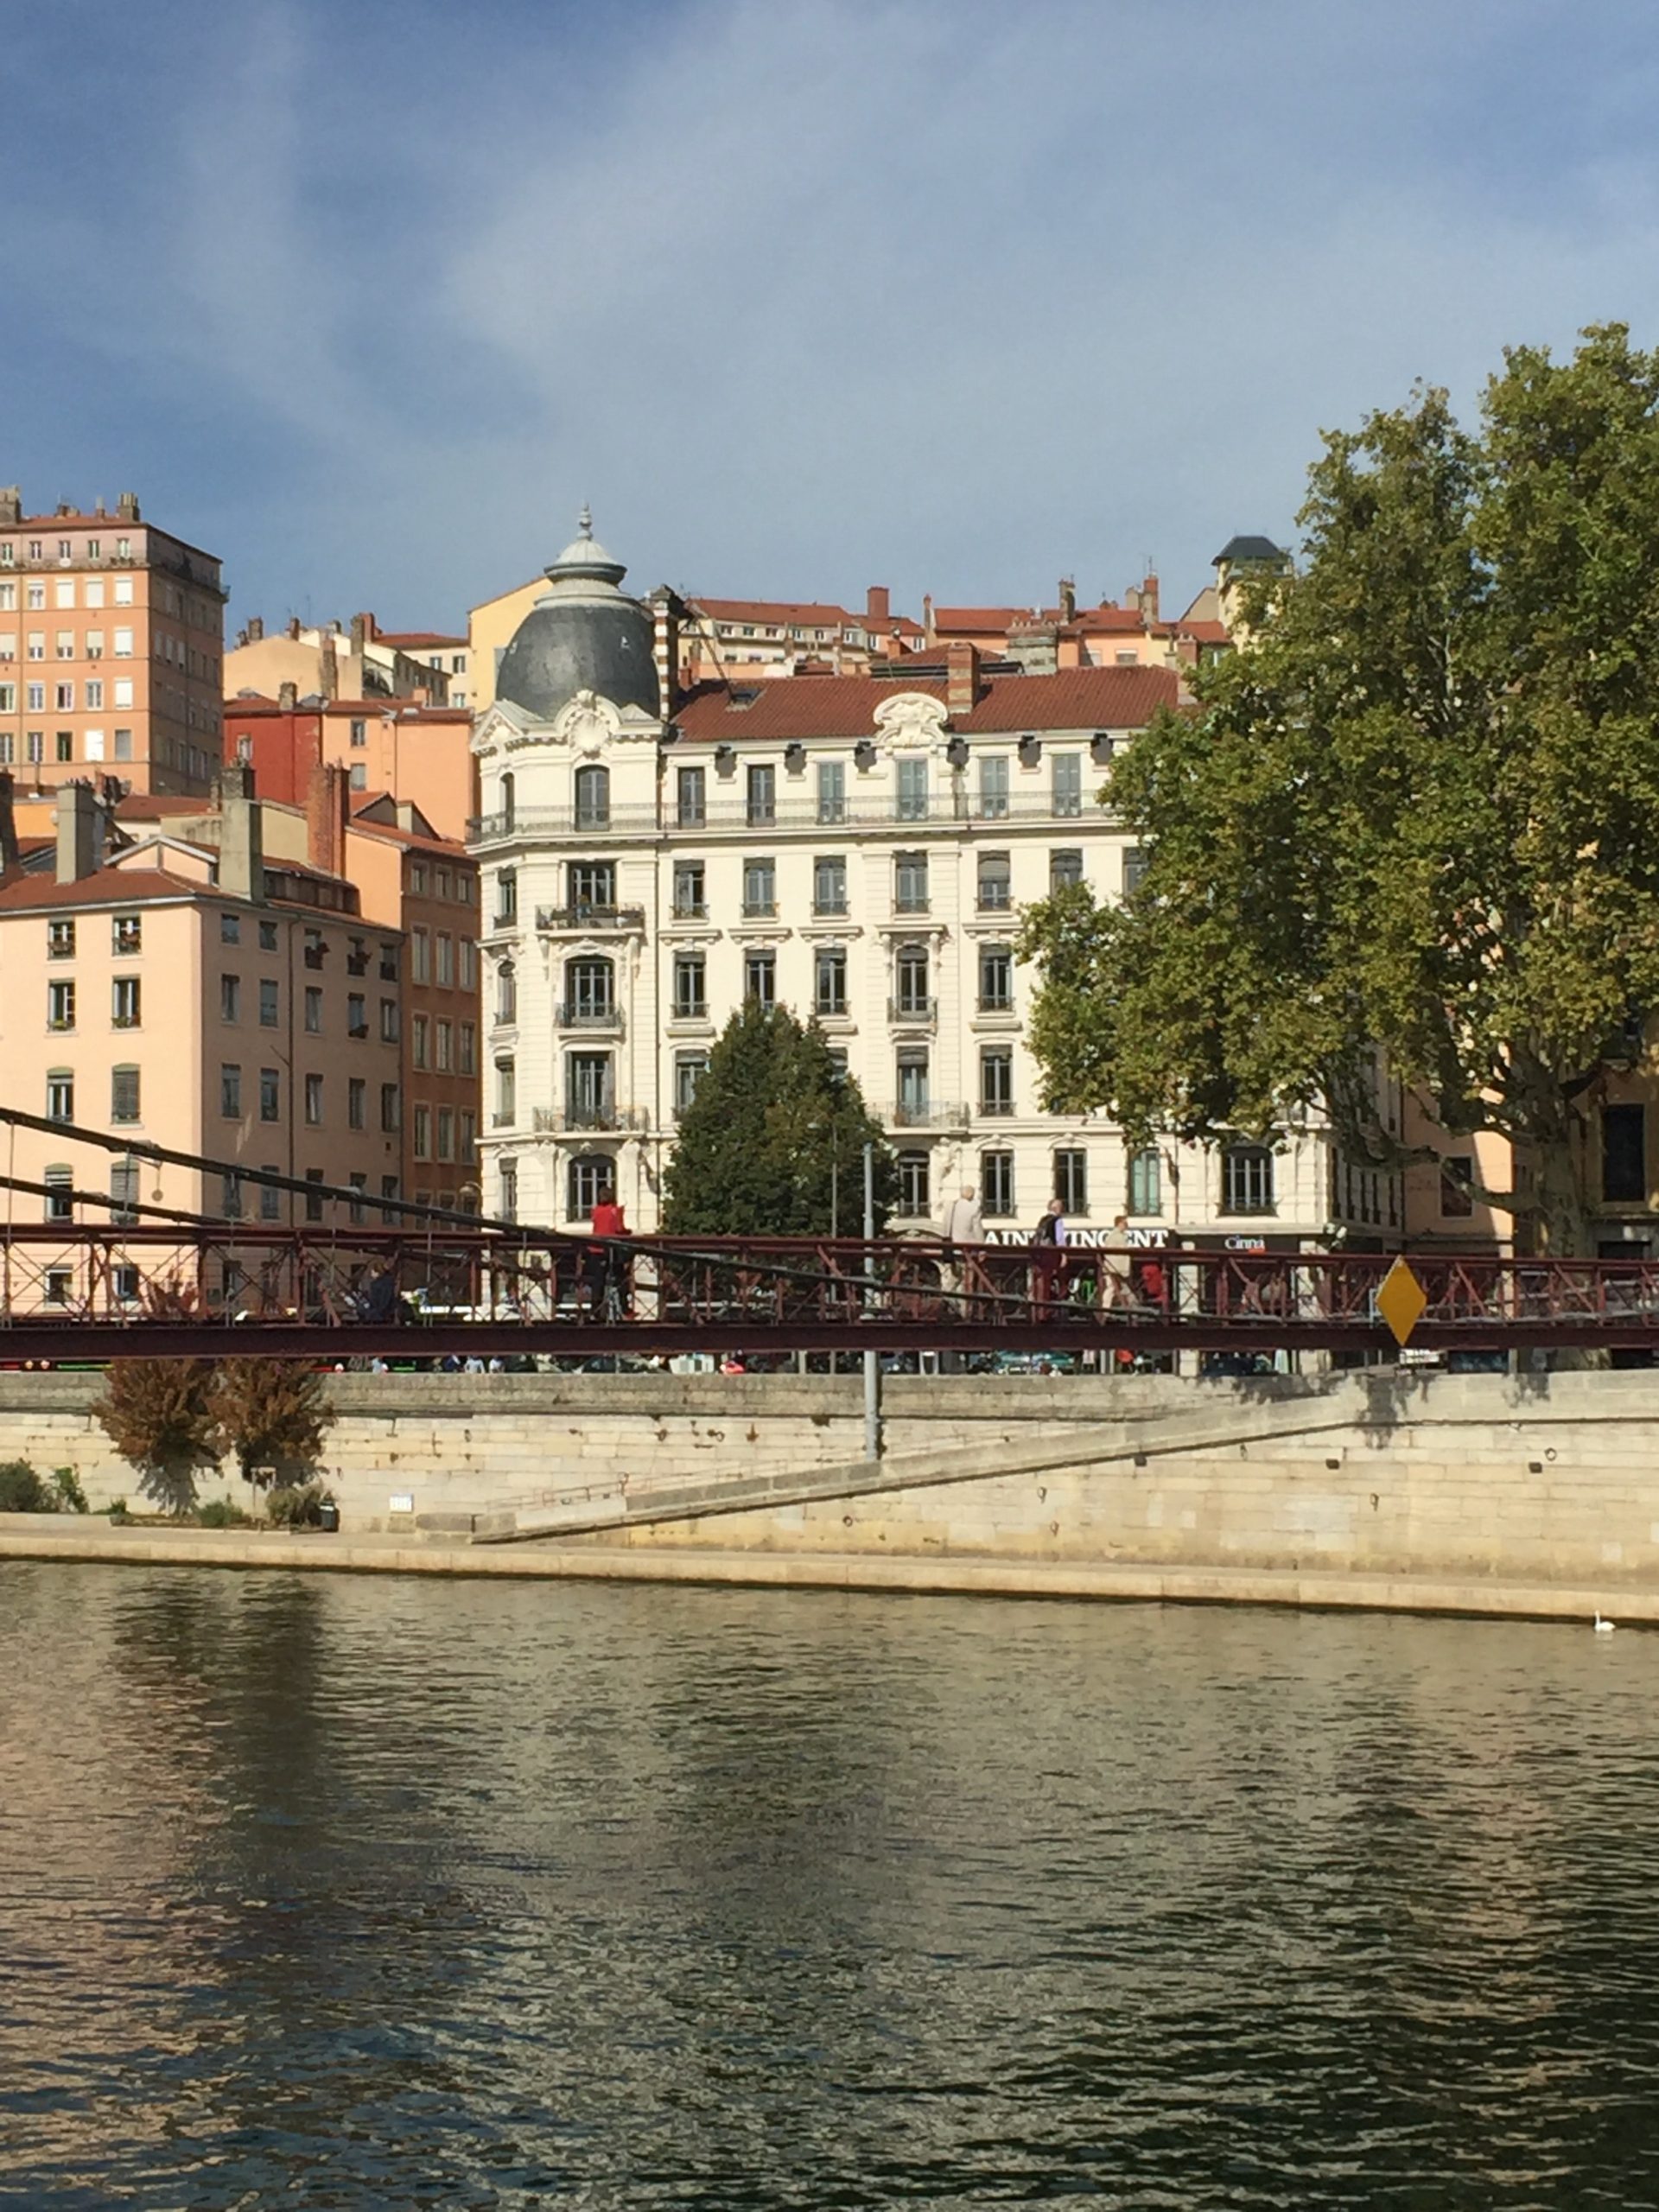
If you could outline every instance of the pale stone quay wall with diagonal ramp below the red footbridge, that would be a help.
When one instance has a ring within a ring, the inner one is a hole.
[[[95,1506],[135,1500],[95,1391],[0,1376],[0,1458],[75,1467]],[[529,1524],[549,1498],[568,1520],[573,1498],[624,1489],[626,1526],[560,1542],[1659,1586],[1659,1374],[889,1378],[878,1486],[858,1469],[858,1378],[334,1376],[330,1391],[325,1475],[358,1531]],[[757,1480],[772,1500],[754,1502]],[[679,1511],[641,1515],[653,1491]]]

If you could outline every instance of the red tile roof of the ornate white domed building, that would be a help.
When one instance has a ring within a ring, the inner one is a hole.
[[[737,706],[723,684],[699,686],[675,714],[681,737],[699,743],[869,737],[883,699],[902,692],[947,697],[938,677],[779,677],[754,690],[750,706]],[[951,717],[951,728],[964,737],[1139,730],[1177,697],[1172,668],[1062,668],[1053,677],[993,677],[971,712]]]

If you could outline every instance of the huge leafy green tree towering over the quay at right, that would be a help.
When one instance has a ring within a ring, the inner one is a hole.
[[[1378,1128],[1380,1051],[1513,1139],[1522,1234],[1584,1250],[1586,1144],[1659,1006],[1659,356],[1515,347],[1327,434],[1292,580],[1113,765],[1135,896],[1029,911],[1051,1104],[1130,1137]]]

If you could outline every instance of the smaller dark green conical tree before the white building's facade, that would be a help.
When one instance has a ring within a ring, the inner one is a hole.
[[[757,1000],[730,1018],[679,1124],[668,1164],[670,1237],[812,1237],[838,1214],[863,1228],[865,1144],[876,1148],[876,1228],[896,1168],[858,1084],[843,1075],[816,1022]]]

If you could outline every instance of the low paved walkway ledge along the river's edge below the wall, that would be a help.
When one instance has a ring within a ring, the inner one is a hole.
[[[31,1526],[33,1522],[33,1526]],[[261,1528],[115,1528],[102,1520],[7,1515],[0,1562],[283,1568],[363,1575],[500,1575],[515,1582],[703,1582],[792,1590],[973,1597],[1093,1597],[1119,1604],[1307,1606],[1352,1613],[1467,1613],[1659,1628],[1659,1586],[1495,1582],[1449,1575],[1305,1573],[1265,1566],[1088,1566],[991,1557],[626,1548],[405,1535],[292,1535]]]

